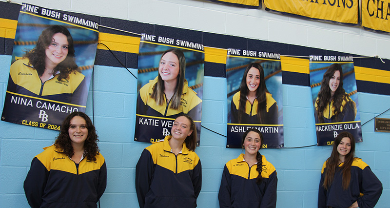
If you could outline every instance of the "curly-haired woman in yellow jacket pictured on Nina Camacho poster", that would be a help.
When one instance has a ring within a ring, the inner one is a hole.
[[[34,49],[11,65],[7,90],[85,105],[84,78],[75,62],[75,48],[68,29],[52,25],[42,31]]]

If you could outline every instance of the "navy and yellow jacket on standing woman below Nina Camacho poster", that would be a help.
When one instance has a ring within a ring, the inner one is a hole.
[[[54,145],[45,147],[31,162],[24,192],[32,208],[96,208],[106,189],[104,157],[83,158],[78,168]]]

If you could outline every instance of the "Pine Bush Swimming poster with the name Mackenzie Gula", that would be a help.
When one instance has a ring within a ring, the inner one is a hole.
[[[352,57],[311,55],[309,68],[317,145],[333,145],[343,131],[362,142]]]

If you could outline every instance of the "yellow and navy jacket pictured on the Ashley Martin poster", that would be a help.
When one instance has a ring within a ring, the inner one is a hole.
[[[272,95],[266,92],[267,96],[267,113],[264,124],[277,124],[277,104]],[[240,92],[234,94],[231,104],[232,123],[238,124],[238,106],[240,102]],[[245,114],[241,119],[241,124],[258,124],[257,121],[257,100],[253,104],[248,100],[245,104]]]

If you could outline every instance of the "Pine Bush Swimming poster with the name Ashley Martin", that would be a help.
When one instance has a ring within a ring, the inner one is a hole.
[[[280,55],[264,51],[228,49],[227,143],[242,148],[245,131],[263,134],[262,148],[283,148],[283,92]]]

